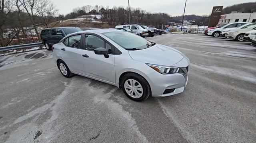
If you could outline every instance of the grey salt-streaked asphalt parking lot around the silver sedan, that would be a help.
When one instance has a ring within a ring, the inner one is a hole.
[[[202,34],[148,39],[190,59],[185,92],[134,102],[115,86],[65,78],[52,51],[0,57],[0,142],[255,143],[255,47]]]

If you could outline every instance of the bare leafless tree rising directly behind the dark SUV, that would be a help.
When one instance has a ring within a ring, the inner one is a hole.
[[[36,0],[34,10],[40,16],[42,23],[48,28],[51,19],[57,14],[58,10],[50,0]]]

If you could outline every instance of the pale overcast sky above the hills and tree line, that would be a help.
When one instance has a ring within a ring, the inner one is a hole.
[[[60,14],[68,14],[73,8],[91,6],[128,6],[128,0],[52,0]],[[186,14],[210,14],[213,6],[231,6],[255,0],[187,0]],[[130,7],[141,8],[147,12],[164,12],[171,16],[183,14],[185,0],[130,0]]]

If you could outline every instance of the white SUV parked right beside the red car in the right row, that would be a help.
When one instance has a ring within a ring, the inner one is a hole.
[[[222,27],[219,28],[215,28],[215,29],[210,29],[207,33],[207,35],[212,35],[213,37],[220,37],[221,36],[221,32],[224,30],[227,30],[229,28],[233,28],[233,27],[240,27],[244,24],[248,24],[248,22],[234,22],[234,23],[229,23],[227,25],[224,25]]]

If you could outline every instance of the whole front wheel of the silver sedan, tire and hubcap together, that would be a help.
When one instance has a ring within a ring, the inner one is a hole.
[[[144,101],[151,95],[150,85],[146,79],[136,73],[125,74],[121,88],[124,94],[134,101]]]

